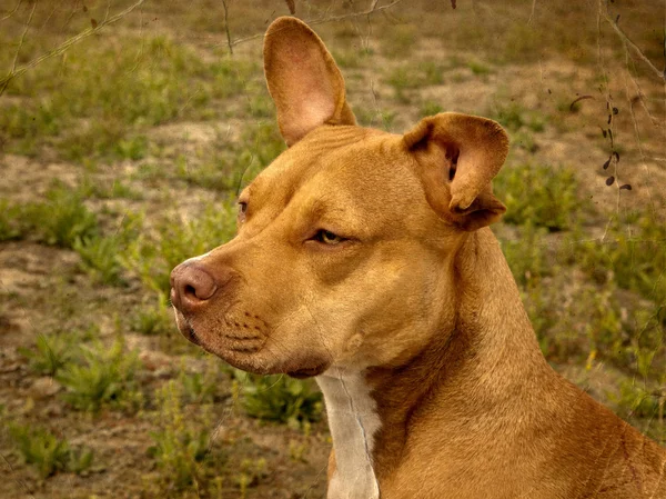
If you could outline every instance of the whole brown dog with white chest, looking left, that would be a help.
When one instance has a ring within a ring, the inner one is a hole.
[[[330,499],[666,498],[666,451],[543,358],[491,230],[494,121],[360,128],[303,22],[265,73],[290,148],[241,194],[239,233],[172,275],[182,333],[252,372],[316,376]]]

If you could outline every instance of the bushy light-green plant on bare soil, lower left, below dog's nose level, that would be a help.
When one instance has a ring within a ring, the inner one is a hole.
[[[57,377],[65,388],[63,398],[78,410],[97,412],[102,406],[138,409],[141,395],[134,387],[137,352],[127,352],[119,336],[107,351],[97,342],[82,347],[82,363],[68,365]]]

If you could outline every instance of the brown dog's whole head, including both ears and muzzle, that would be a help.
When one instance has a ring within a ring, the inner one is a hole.
[[[238,236],[172,272],[181,332],[241,369],[315,376],[406,361],[455,313],[454,256],[498,219],[507,153],[494,121],[356,126],[320,38],[280,18],[264,42],[290,146],[241,193]]]

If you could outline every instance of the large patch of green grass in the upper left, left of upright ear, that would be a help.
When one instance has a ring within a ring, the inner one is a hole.
[[[9,151],[27,156],[51,146],[75,162],[138,160],[149,152],[143,130],[215,118],[215,103],[242,92],[255,76],[255,63],[204,62],[164,37],[87,41],[12,81],[13,93],[31,99],[0,104],[0,138]]]

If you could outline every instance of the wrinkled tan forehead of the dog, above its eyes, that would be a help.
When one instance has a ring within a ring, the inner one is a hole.
[[[283,152],[250,186],[261,204],[292,200],[311,209],[395,217],[424,200],[401,136],[360,127],[321,127]]]

